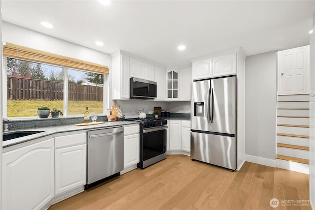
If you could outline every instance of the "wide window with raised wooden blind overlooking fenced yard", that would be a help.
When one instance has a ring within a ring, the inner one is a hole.
[[[83,114],[86,107],[91,113],[104,112],[107,66],[13,44],[3,47],[3,55],[7,70],[4,116],[35,117],[37,107],[43,106],[63,110],[65,115]]]

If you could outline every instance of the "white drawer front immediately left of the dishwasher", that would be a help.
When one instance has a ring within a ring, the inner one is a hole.
[[[87,143],[87,134],[78,133],[55,137],[55,149]]]

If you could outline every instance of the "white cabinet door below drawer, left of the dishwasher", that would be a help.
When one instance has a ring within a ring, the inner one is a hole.
[[[55,150],[55,194],[86,184],[87,146]]]

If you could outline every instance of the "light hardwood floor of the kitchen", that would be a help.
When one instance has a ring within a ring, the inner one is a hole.
[[[249,162],[230,172],[167,155],[49,210],[271,210],[272,198],[280,201],[279,210],[310,210],[310,205],[282,204],[309,200],[309,175]]]

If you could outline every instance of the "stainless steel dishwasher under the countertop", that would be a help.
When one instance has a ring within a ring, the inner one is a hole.
[[[119,176],[124,170],[124,128],[106,128],[87,132],[87,184],[96,184]]]

